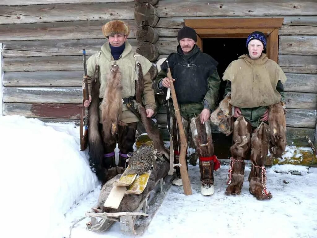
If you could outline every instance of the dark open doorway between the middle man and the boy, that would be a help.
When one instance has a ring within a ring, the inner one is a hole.
[[[221,79],[219,98],[216,106],[223,99],[227,82],[222,80],[222,76],[228,65],[238,59],[239,56],[248,52],[245,43],[246,38],[203,38],[203,52],[213,57],[217,62],[217,71]],[[226,136],[222,133],[212,133],[214,142],[214,154],[218,158],[229,158],[232,134]]]

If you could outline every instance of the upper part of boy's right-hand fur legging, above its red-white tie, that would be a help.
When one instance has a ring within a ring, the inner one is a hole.
[[[268,125],[264,122],[254,130],[251,138],[251,157],[253,164],[262,166],[268,155]]]

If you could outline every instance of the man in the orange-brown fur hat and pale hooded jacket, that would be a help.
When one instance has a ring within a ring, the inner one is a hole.
[[[156,107],[149,73],[152,63],[134,52],[131,44],[127,42],[129,32],[128,25],[123,21],[113,20],[106,23],[102,26],[102,33],[108,41],[102,45],[101,51],[87,60],[87,74],[90,78],[88,84],[92,98],[94,98],[94,90],[92,89],[91,78],[94,76],[95,66],[100,66],[100,87],[97,89],[97,101],[100,100],[97,102],[97,106],[99,104],[100,106],[99,115],[96,115],[100,117],[96,118],[96,120],[99,119],[100,124],[99,133],[93,131],[91,125],[93,120],[89,117],[90,156],[92,156],[92,153],[94,154],[95,150],[100,151],[98,148],[90,148],[94,147],[92,145],[96,141],[96,138],[90,138],[90,135],[95,135],[95,137],[101,135],[104,152],[101,159],[93,158],[93,161],[101,161],[106,169],[116,166],[114,158],[116,143],[118,143],[120,149],[118,166],[125,168],[127,153],[133,152],[139,119],[127,108],[127,103],[133,104],[136,93],[135,81],[139,80],[139,77],[143,76],[144,80],[142,100],[145,105],[146,116],[151,117]],[[138,74],[139,69],[142,72]],[[86,100],[84,106],[88,107],[89,105],[90,102]],[[91,102],[90,108],[92,105],[93,102]]]

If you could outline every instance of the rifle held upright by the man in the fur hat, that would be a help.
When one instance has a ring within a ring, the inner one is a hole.
[[[89,91],[88,91],[88,82],[87,82],[87,64],[86,64],[86,50],[82,50],[82,57],[83,57],[83,63],[84,63],[84,88],[82,91],[82,97],[83,97],[83,103],[85,100],[89,100]],[[87,142],[88,142],[88,108],[84,107],[82,108],[81,112],[81,120],[80,120],[80,150],[84,151],[87,148]]]

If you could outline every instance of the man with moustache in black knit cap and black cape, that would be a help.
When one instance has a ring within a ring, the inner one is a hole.
[[[213,156],[213,143],[210,132],[210,112],[215,107],[218,98],[220,78],[217,73],[217,62],[209,55],[202,53],[196,45],[197,35],[194,29],[184,27],[178,32],[179,45],[177,53],[171,53],[166,61],[171,69],[175,92],[182,116],[183,126],[188,137],[191,129],[192,139],[199,156],[201,193],[214,193],[213,171],[219,166],[217,157]],[[170,87],[167,78],[167,64],[157,76],[157,88]],[[175,116],[172,123],[175,162],[178,163],[179,135],[176,130]],[[176,168],[174,185],[182,185],[179,167]]]

